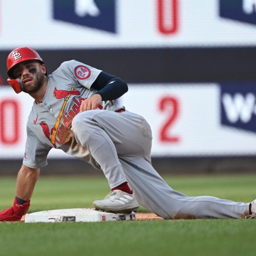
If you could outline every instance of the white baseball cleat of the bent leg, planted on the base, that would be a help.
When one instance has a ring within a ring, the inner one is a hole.
[[[111,191],[103,200],[94,201],[95,210],[104,210],[114,213],[131,213],[139,208],[135,195],[122,190]]]

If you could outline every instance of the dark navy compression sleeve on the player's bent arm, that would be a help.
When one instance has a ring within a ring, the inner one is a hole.
[[[119,77],[101,72],[91,86],[92,89],[98,90],[102,100],[113,100],[121,97],[128,91],[128,86]]]

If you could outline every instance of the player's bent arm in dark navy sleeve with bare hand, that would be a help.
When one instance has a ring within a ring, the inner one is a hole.
[[[128,91],[127,83],[119,77],[101,72],[93,82],[90,89],[97,92],[90,98],[83,100],[80,106],[80,112],[94,110],[103,100],[114,100],[121,97]]]

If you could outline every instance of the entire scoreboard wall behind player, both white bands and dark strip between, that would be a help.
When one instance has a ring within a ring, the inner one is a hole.
[[[256,154],[256,0],[0,0],[0,46],[0,84],[20,46],[48,73],[77,59],[127,81],[153,156]],[[0,87],[0,159],[23,157],[32,103]]]

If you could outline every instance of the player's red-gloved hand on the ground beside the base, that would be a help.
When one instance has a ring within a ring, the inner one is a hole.
[[[30,201],[20,204],[14,199],[13,206],[0,211],[0,221],[20,221],[29,209]]]

